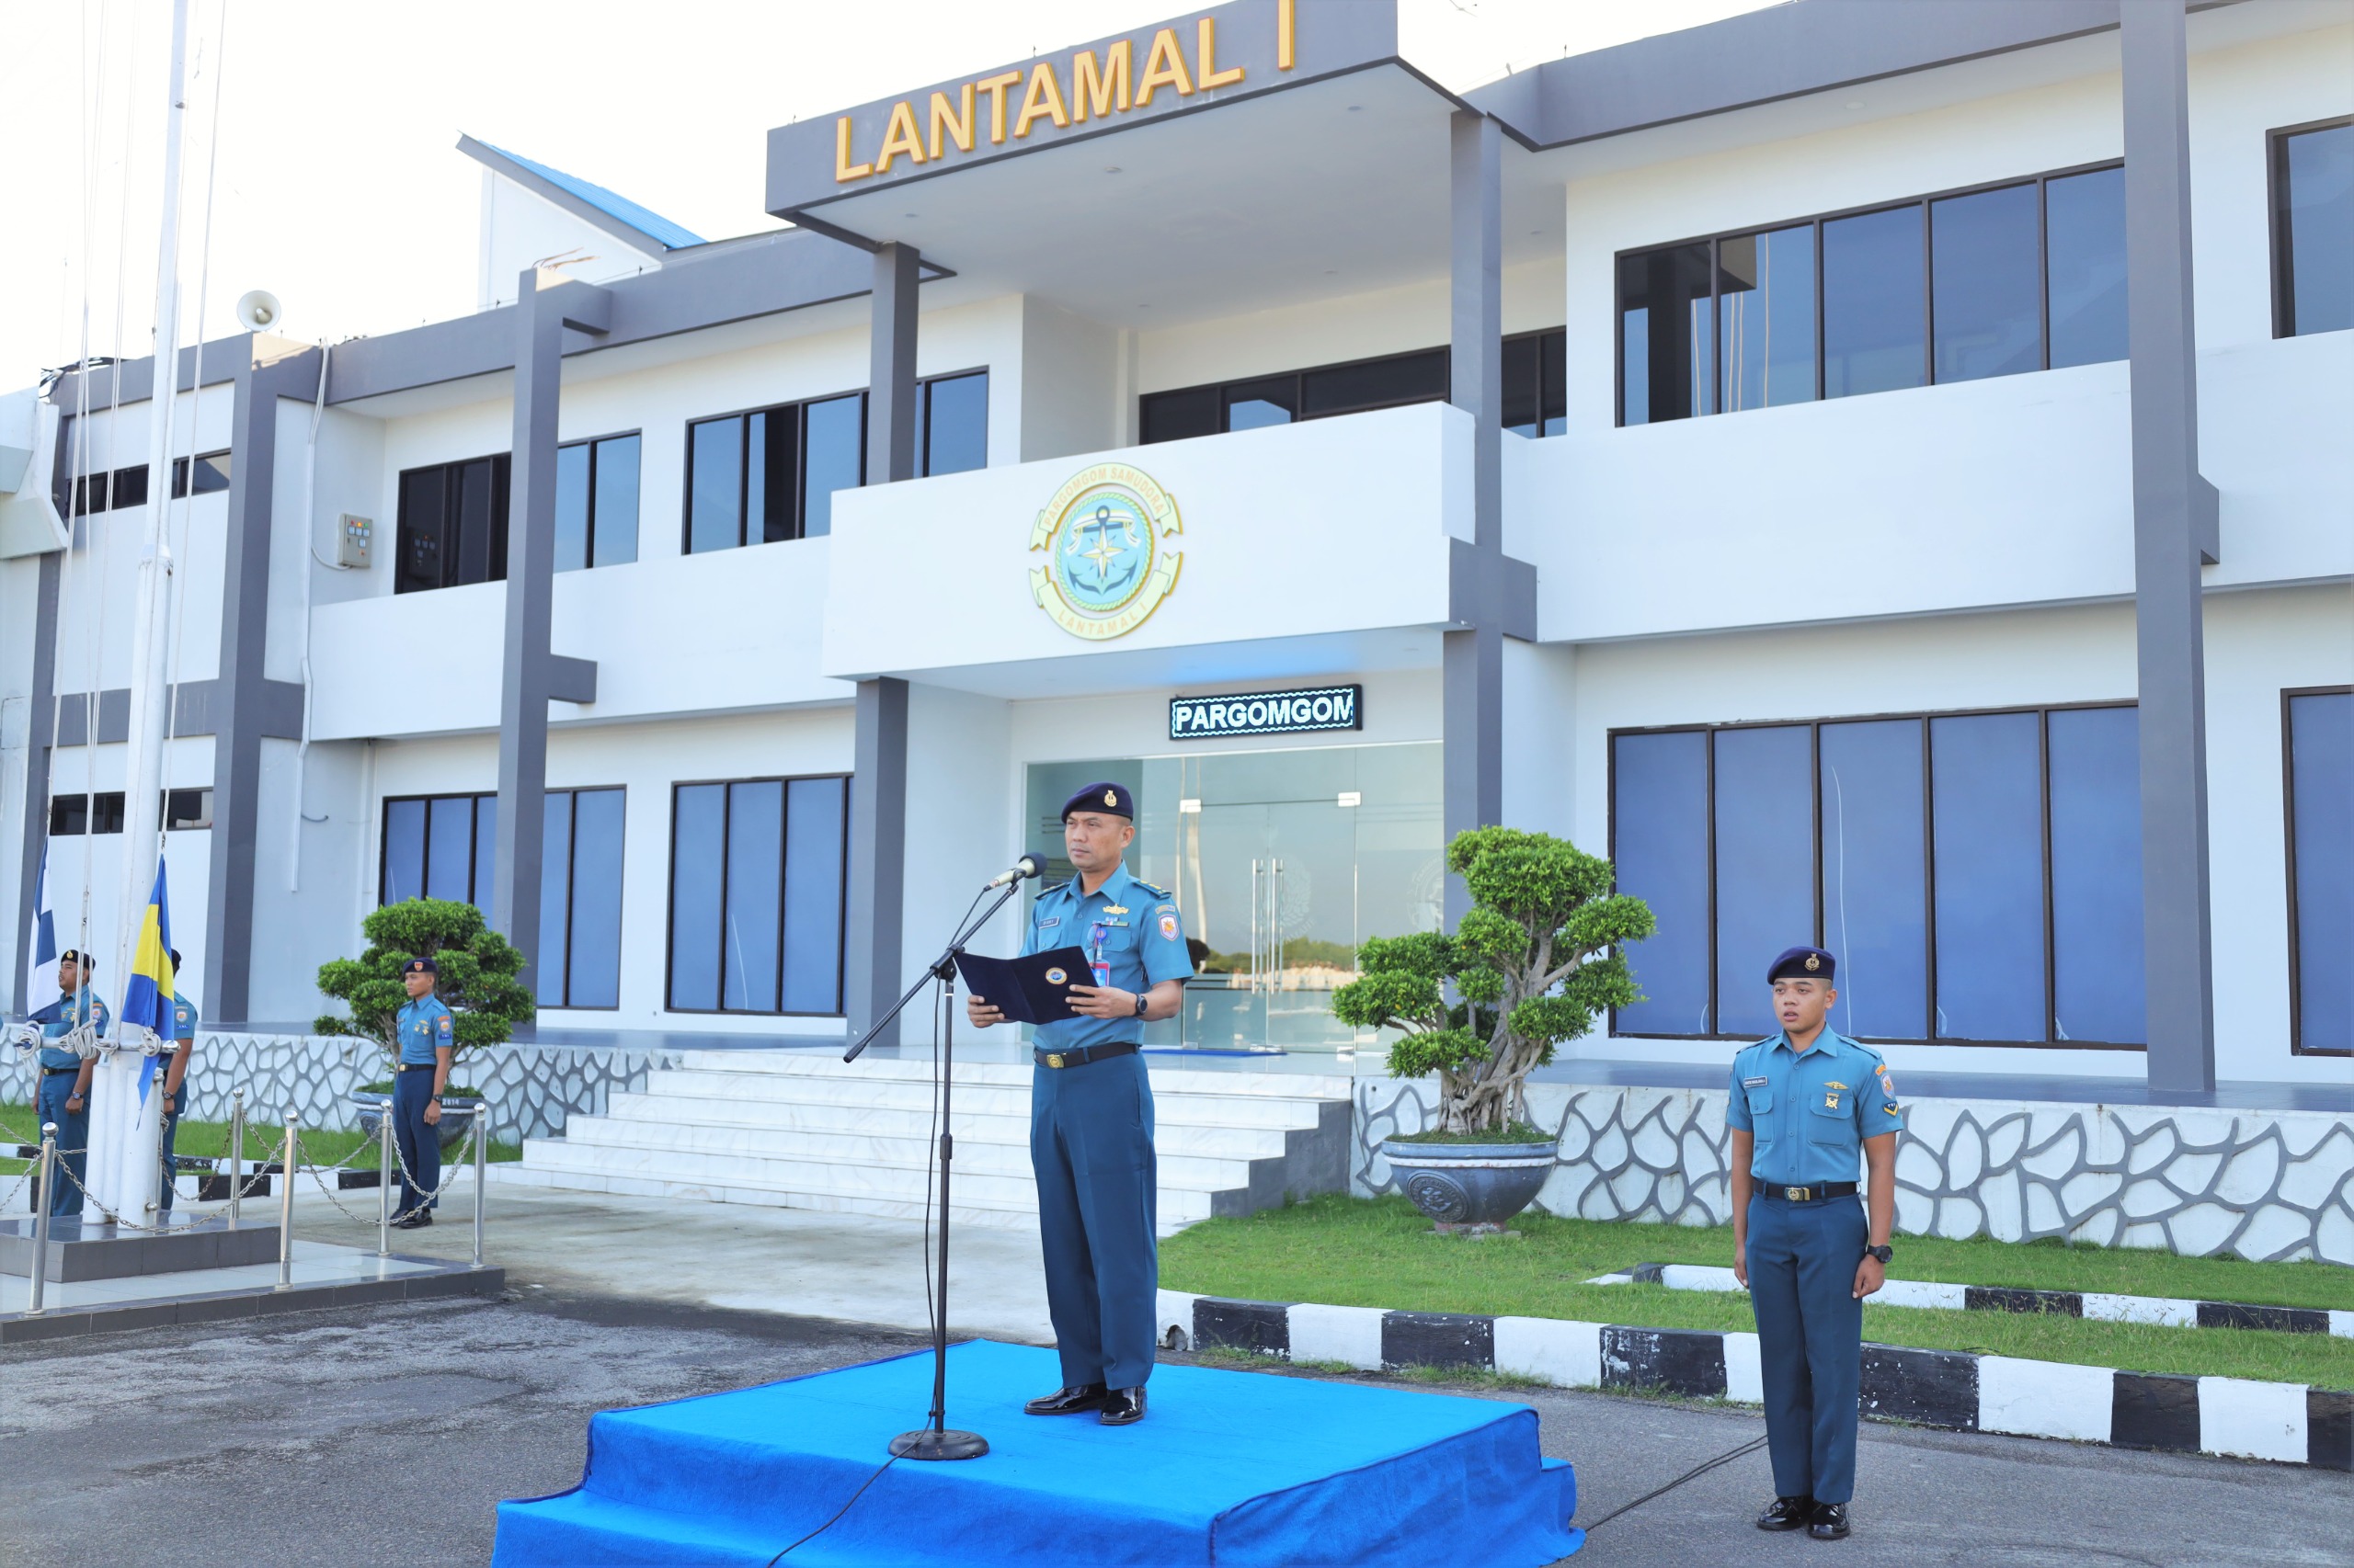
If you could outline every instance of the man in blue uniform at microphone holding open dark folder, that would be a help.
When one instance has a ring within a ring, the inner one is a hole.
[[[1071,986],[1078,1017],[1040,1024],[1033,1041],[1031,1168],[1064,1387],[1024,1410],[1095,1413],[1106,1427],[1144,1420],[1153,1375],[1153,1090],[1137,1052],[1146,1019],[1177,1017],[1193,972],[1177,902],[1128,876],[1135,836],[1125,786],[1090,784],[1064,800],[1062,843],[1078,876],[1038,895],[1022,942],[1024,954],[1078,946],[1095,970],[1095,984]],[[965,998],[965,1017],[979,1029],[1005,1022],[984,996]]]

